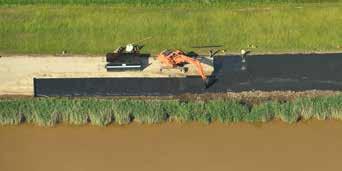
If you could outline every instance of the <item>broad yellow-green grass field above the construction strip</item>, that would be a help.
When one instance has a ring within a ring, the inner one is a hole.
[[[1,5],[0,53],[104,54],[152,36],[145,51],[222,44],[228,52],[342,50],[342,3],[231,6]]]

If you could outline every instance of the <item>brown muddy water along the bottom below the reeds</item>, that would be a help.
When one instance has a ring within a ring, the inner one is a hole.
[[[0,128],[1,171],[340,170],[342,122]]]

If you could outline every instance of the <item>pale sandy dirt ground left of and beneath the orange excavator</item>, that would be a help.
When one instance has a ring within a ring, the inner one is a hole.
[[[0,95],[33,95],[33,78],[77,77],[185,77],[197,75],[188,65],[185,74],[178,70],[160,72],[160,63],[149,59],[143,71],[107,72],[101,56],[2,56],[0,58]],[[203,64],[207,75],[213,68]]]

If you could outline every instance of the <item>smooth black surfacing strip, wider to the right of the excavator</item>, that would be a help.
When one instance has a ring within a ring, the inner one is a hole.
[[[187,78],[35,78],[35,96],[166,96],[183,93],[342,90],[342,53],[217,56],[212,85]]]

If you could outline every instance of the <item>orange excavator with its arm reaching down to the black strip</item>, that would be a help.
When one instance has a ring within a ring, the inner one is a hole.
[[[161,67],[161,71],[164,68],[179,68],[182,70],[184,64],[192,64],[196,67],[198,74],[204,81],[205,86],[208,86],[208,78],[204,74],[201,62],[195,58],[189,57],[181,50],[164,50],[158,56],[157,59],[164,65]],[[185,71],[185,70],[184,70]]]

